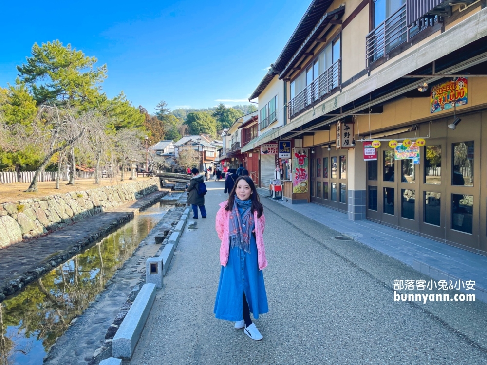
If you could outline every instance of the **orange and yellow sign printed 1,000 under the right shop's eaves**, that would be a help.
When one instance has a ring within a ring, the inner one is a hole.
[[[459,77],[456,81],[446,81],[431,87],[430,113],[467,105],[468,79]]]

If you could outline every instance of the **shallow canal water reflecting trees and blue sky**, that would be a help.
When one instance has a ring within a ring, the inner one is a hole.
[[[0,303],[0,365],[42,364],[49,348],[174,205],[158,203]]]

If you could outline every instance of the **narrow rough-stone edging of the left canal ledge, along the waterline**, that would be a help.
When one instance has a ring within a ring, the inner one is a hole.
[[[142,211],[150,207],[155,202],[160,200],[161,194],[166,195],[168,194],[168,191],[154,193],[154,197],[152,199],[145,202],[137,209],[139,211]],[[113,230],[130,222],[133,219],[133,217],[134,217],[133,212],[127,212],[127,214],[123,215],[121,218],[117,219],[116,221],[114,220],[110,225],[100,228],[98,231],[83,237],[82,240],[76,241],[75,244],[69,246],[66,250],[61,251],[59,254],[51,256],[48,260],[44,262],[40,262],[37,268],[26,271],[20,274],[17,278],[13,280],[9,280],[6,283],[5,282],[0,283],[0,303],[3,302],[3,300],[5,300],[6,296],[18,292],[24,286],[39,278],[42,274],[49,272],[53,268],[61,265],[62,263],[69,260],[71,257],[75,256],[76,254],[81,252],[84,248],[86,248],[93,242],[108,236]]]

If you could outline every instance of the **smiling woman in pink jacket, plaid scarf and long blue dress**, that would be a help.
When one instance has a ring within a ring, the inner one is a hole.
[[[255,185],[248,176],[237,179],[227,201],[216,215],[220,246],[220,283],[216,293],[215,317],[235,321],[252,340],[262,334],[250,319],[269,311],[262,269],[267,266],[263,233],[265,217]]]

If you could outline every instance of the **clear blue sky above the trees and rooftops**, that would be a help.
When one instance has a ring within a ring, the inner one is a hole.
[[[107,64],[109,97],[123,90],[149,112],[161,99],[172,109],[243,104],[310,0],[75,3],[3,2],[0,86],[14,82],[34,42],[59,39]]]

